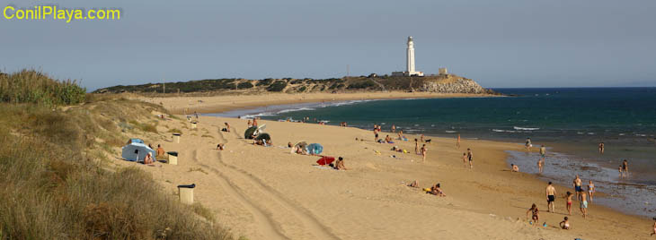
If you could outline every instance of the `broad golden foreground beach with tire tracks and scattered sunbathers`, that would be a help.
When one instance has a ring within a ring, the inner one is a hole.
[[[174,98],[151,101],[180,106]],[[207,105],[250,107],[230,106],[229,99]],[[220,131],[225,122],[231,125],[230,133]],[[197,184],[195,201],[212,210],[235,235],[248,239],[649,239],[651,233],[650,219],[594,202],[588,219],[583,219],[579,201],[574,201],[568,216],[572,229],[557,227],[567,216],[563,195],[573,189],[556,186],[555,213],[546,212],[546,184],[535,176],[511,173],[506,166],[504,150],[522,150],[517,143],[465,139],[457,149],[455,139],[433,138],[422,163],[421,155],[414,154],[412,135],[411,141],[387,144],[374,142],[371,131],[350,127],[260,124],[267,125],[272,147],[244,140],[243,119],[200,116],[198,129],[191,129],[186,119],[162,121],[159,134],[135,137],[179,151],[177,166],[116,163],[150,172],[166,193],[177,193],[178,184]],[[171,133],[166,133],[173,128],[182,130],[181,143],[173,143]],[[343,157],[349,169],[318,167],[319,157],[289,153],[289,141],[321,143],[324,155]],[[226,150],[216,150],[217,143],[225,143]],[[394,145],[411,153],[390,150]],[[462,161],[467,148],[474,151],[471,170]],[[440,183],[448,196],[406,186],[413,180],[421,188]],[[540,210],[540,227],[528,223],[531,203]]]

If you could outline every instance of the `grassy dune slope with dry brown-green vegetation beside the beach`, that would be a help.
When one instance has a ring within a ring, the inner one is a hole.
[[[137,167],[115,167],[124,133],[155,134],[166,111],[35,71],[0,76],[0,238],[232,239]],[[155,132],[155,133],[154,133]]]

